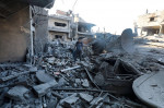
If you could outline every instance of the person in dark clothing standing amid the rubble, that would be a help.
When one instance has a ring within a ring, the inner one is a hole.
[[[79,38],[78,41],[75,43],[74,51],[73,51],[74,62],[77,61],[77,58],[80,58],[80,60],[81,60],[81,58],[82,58],[82,50],[83,50],[83,43]]]

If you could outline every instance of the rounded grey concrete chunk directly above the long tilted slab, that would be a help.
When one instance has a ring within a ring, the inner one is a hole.
[[[40,83],[47,83],[55,80],[54,76],[45,73],[44,71],[36,72],[36,77]]]

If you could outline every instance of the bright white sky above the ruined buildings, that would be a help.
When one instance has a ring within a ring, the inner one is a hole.
[[[56,0],[49,14],[56,10],[72,10],[77,0]],[[86,22],[94,23],[96,31],[120,34],[125,28],[132,28],[139,15],[156,10],[164,10],[163,0],[78,0],[74,13],[79,13]]]

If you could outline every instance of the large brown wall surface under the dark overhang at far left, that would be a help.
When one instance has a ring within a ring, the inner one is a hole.
[[[8,19],[0,19],[0,62],[25,60],[30,45],[28,22],[28,7]]]

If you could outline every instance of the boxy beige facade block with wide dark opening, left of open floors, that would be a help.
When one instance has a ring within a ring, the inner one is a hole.
[[[49,15],[48,19],[48,40],[54,41],[57,38],[61,40],[71,39],[69,16]]]

